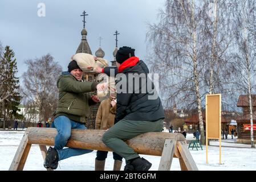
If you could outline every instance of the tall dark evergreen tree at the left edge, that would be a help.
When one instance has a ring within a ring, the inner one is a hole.
[[[19,95],[19,78],[15,54],[9,46],[5,47],[0,61],[0,113],[3,118],[3,129],[9,119],[19,119],[22,116],[17,113],[21,102]]]

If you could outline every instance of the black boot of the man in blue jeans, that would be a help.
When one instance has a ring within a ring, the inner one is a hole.
[[[56,169],[58,167],[59,155],[55,148],[49,147],[46,160],[44,161],[43,166],[45,168]]]

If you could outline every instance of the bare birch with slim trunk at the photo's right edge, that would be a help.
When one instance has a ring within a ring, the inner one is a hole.
[[[256,1],[242,0],[234,1],[234,34],[236,49],[234,59],[236,61],[237,87],[247,93],[249,100],[250,125],[251,125],[251,147],[255,148],[253,137],[253,104],[251,92],[255,88],[255,56],[256,56]],[[255,91],[255,90],[254,90]]]

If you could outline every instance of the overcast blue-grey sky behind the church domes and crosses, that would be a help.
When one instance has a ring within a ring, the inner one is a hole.
[[[45,17],[38,16],[39,3],[46,6]],[[120,33],[118,47],[131,46],[136,49],[136,56],[144,59],[147,22],[156,22],[163,6],[164,0],[0,0],[0,41],[14,50],[18,76],[27,69],[25,60],[47,53],[65,70],[82,38],[83,17],[80,15],[85,10],[87,41],[93,54],[99,48],[101,36],[104,58],[113,60],[113,34],[117,30]]]

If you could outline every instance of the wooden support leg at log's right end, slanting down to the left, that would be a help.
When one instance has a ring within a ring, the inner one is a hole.
[[[162,150],[162,156],[159,164],[159,171],[170,171],[170,166],[172,165],[175,146],[176,146],[175,140],[172,140],[172,139],[165,140],[164,148]]]

